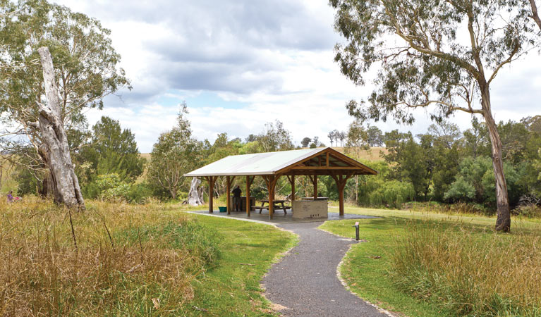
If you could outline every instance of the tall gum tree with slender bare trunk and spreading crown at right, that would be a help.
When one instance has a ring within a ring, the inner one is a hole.
[[[430,108],[440,121],[455,111],[479,114],[492,144],[496,229],[509,231],[511,216],[502,141],[492,116],[490,85],[499,70],[539,46],[526,4],[515,0],[330,0],[335,61],[357,85],[378,68],[367,100],[350,101],[352,116],[412,124],[413,108]]]

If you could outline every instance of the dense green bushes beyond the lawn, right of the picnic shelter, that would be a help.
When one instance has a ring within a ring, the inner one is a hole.
[[[498,125],[511,209],[518,206],[521,197],[541,198],[537,168],[541,166],[540,127],[541,116]],[[387,148],[387,153],[382,152],[385,161],[364,162],[379,174],[360,177],[357,200],[361,205],[399,208],[401,197],[410,197],[408,185],[413,185],[415,201],[473,204],[489,214],[495,213],[490,138],[485,125],[476,118],[472,128],[463,132],[457,125],[443,121],[415,136],[399,130],[386,132],[383,141]],[[346,188],[346,192],[351,190]]]

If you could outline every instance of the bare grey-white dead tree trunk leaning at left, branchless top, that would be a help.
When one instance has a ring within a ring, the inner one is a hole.
[[[32,125],[39,128],[42,135],[43,148],[41,150],[47,158],[47,164],[51,171],[54,200],[57,204],[65,204],[69,208],[84,209],[85,201],[71,162],[66,130],[63,128],[59,92],[54,79],[51,54],[47,47],[40,47],[37,51],[43,68],[47,104],[38,104],[38,122],[32,123]]]

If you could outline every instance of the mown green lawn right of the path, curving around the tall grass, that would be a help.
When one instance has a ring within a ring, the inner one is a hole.
[[[330,209],[329,211],[332,211]],[[454,311],[434,304],[434,301],[420,301],[411,295],[401,292],[394,285],[389,270],[391,269],[391,252],[396,246],[397,237],[406,234],[408,223],[415,221],[426,225],[439,223],[443,226],[461,225],[475,230],[478,240],[491,239],[495,218],[473,215],[445,215],[439,213],[420,213],[415,211],[399,211],[384,209],[346,208],[346,213],[358,213],[382,216],[376,219],[334,220],[327,221],[320,229],[327,230],[344,237],[355,237],[353,225],[360,223],[360,238],[365,243],[353,245],[346,254],[340,268],[341,275],[353,292],[369,302],[378,304],[384,309],[396,311],[406,316],[456,316]],[[541,232],[536,220],[513,220],[513,233],[505,236],[512,240],[524,232]],[[437,302],[437,301],[436,301]]]

